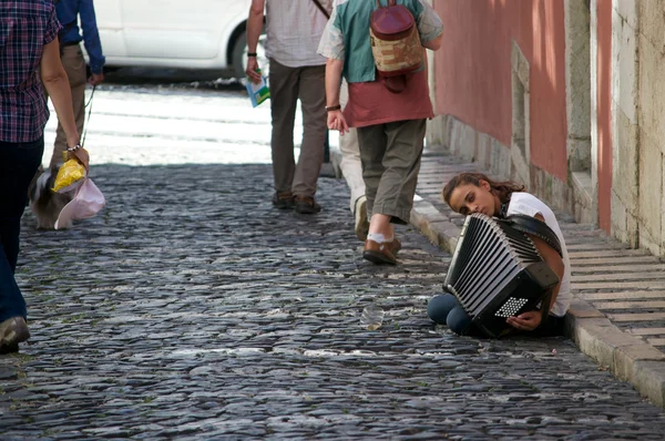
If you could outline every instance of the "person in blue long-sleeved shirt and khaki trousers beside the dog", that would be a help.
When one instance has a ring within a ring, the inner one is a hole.
[[[62,30],[58,35],[60,41],[60,58],[70,89],[72,90],[72,103],[76,130],[83,133],[85,120],[85,84],[99,85],[104,81],[104,55],[102,54],[102,42],[96,25],[94,3],[92,0],[59,0],[55,4],[58,20],[62,23]],[[81,28],[79,28],[81,18]],[[81,38],[83,31],[83,38]],[[85,69],[85,59],[81,51],[81,41],[85,44],[85,51],[90,59],[90,78]],[[60,121],[55,130],[55,143],[51,155],[51,166],[62,164],[62,152],[66,150],[66,136]]]

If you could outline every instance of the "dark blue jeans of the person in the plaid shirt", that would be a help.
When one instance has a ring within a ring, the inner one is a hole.
[[[27,316],[25,300],[14,279],[14,270],[28,187],[43,153],[43,137],[29,143],[0,141],[0,322]]]

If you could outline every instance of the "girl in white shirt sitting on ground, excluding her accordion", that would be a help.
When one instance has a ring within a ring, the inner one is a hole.
[[[546,320],[541,311],[528,311],[516,317],[509,317],[507,322],[519,331],[529,331],[539,336],[563,334],[563,317],[571,302],[571,264],[561,228],[552,209],[542,201],[524,192],[524,186],[505,181],[493,182],[482,173],[460,173],[443,187],[443,199],[452,211],[469,215],[482,213],[487,216],[507,217],[522,214],[544,222],[559,238],[563,258],[544,240],[531,236],[543,260],[559,276],[559,284],[552,291],[550,316]],[[463,310],[452,294],[443,294],[432,298],[428,306],[429,317],[457,334],[473,334],[470,327],[471,317]],[[542,322],[542,326],[541,326]]]

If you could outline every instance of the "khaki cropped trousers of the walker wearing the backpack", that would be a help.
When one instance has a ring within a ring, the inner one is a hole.
[[[418,184],[426,120],[397,121],[358,129],[367,213],[408,224]]]

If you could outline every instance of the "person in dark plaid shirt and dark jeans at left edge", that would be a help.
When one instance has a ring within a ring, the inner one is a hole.
[[[49,110],[43,88],[66,145],[79,145],[69,81],[60,62],[60,28],[51,0],[0,2],[0,353],[17,351],[30,337],[14,270],[28,186],[44,151]]]

